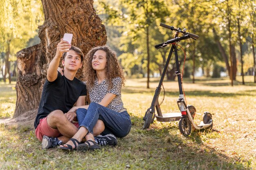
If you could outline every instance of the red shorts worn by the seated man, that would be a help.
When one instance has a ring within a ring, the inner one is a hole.
[[[79,127],[78,122],[74,122],[73,124],[77,128]],[[36,137],[40,141],[42,141],[43,135],[46,135],[48,137],[60,137],[60,136],[62,136],[60,131],[58,131],[58,129],[51,128],[47,124],[47,117],[45,117],[43,119],[40,119],[39,124],[36,127],[35,133],[36,133]]]

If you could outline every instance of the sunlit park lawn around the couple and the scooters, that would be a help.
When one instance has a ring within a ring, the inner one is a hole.
[[[0,169],[42,170],[250,170],[256,169],[256,84],[253,77],[237,77],[234,86],[227,78],[198,78],[192,84],[184,79],[187,104],[195,106],[195,122],[200,123],[203,112],[213,115],[213,130],[194,131],[184,137],[178,122],[154,121],[142,130],[142,117],[150,106],[158,85],[151,79],[128,79],[122,99],[131,115],[130,134],[118,139],[117,147],[103,147],[89,152],[64,152],[58,148],[42,150],[28,125],[0,124]],[[11,117],[15,108],[14,84],[7,90],[0,84],[0,118]],[[165,99],[162,112],[178,112],[177,82],[164,82]],[[162,91],[163,92],[163,91]],[[159,101],[162,100],[161,92]],[[5,104],[4,104],[5,103]],[[9,107],[5,107],[9,104]],[[8,114],[9,115],[8,115]]]

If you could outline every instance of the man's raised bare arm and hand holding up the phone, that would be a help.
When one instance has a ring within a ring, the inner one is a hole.
[[[54,80],[56,80],[58,76],[57,69],[58,69],[62,54],[64,52],[68,52],[69,50],[67,49],[70,49],[70,47],[71,47],[71,44],[69,44],[67,41],[63,41],[63,39],[61,39],[61,42],[58,43],[56,54],[52,59],[52,61],[50,62],[49,68],[47,70],[47,80],[49,82],[53,82]]]

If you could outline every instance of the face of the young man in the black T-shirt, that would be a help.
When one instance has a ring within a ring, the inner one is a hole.
[[[62,60],[62,65],[70,71],[77,71],[82,67],[81,57],[75,51],[70,50]]]

